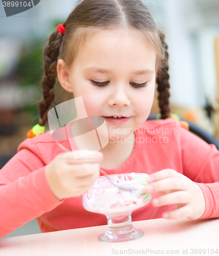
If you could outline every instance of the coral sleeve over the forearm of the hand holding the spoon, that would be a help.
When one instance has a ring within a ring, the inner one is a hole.
[[[0,237],[51,211],[58,200],[47,183],[45,164],[28,148],[0,170]]]

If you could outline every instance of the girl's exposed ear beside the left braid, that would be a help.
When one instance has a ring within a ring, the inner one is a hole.
[[[59,59],[57,62],[57,75],[59,82],[61,86],[68,92],[73,92],[71,82],[70,82],[70,77],[69,77],[69,70],[65,69],[64,67],[64,60]]]

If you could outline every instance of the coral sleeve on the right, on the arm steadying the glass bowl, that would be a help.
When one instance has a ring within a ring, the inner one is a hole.
[[[205,212],[200,219],[219,218],[219,151],[180,128],[183,174],[203,191]]]

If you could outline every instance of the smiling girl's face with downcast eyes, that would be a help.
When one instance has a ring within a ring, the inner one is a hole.
[[[73,92],[75,98],[82,96],[88,116],[105,117],[109,140],[127,137],[151,111],[156,54],[136,33],[140,32],[98,32],[86,42],[69,69],[60,71],[63,60],[58,61],[62,87]],[[106,118],[110,116],[127,118]]]

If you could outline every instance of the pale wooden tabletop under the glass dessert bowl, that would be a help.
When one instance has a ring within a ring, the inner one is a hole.
[[[133,225],[144,231],[142,238],[105,243],[98,236],[106,231],[106,226],[70,229],[0,239],[0,255],[185,255],[185,250],[187,255],[208,255],[191,253],[191,249],[209,249],[209,255],[219,255],[219,219],[154,219],[133,222]],[[212,254],[216,249],[217,253]],[[179,252],[173,253],[174,250]]]

